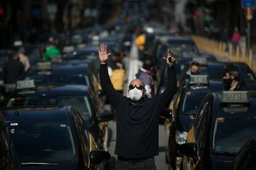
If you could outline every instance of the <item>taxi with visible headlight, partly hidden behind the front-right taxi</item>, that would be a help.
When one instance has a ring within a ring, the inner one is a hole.
[[[173,169],[179,168],[181,164],[177,146],[186,142],[187,132],[202,100],[210,92],[222,90],[221,81],[208,80],[207,75],[192,75],[181,84],[174,95],[169,105],[172,117],[164,122],[166,163]]]

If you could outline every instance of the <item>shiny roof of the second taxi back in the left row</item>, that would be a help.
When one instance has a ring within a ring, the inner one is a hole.
[[[65,86],[39,86],[36,91],[15,91],[14,95],[27,96],[49,96],[49,95],[88,95],[90,88],[83,85],[65,85]],[[12,95],[12,96],[14,96]]]

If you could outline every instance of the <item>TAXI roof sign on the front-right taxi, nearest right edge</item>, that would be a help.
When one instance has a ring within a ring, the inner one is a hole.
[[[221,103],[249,103],[249,93],[247,91],[223,91]]]

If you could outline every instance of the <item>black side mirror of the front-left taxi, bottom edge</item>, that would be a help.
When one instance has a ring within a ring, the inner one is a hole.
[[[104,150],[92,150],[90,152],[90,165],[95,166],[110,161],[110,154]]]

